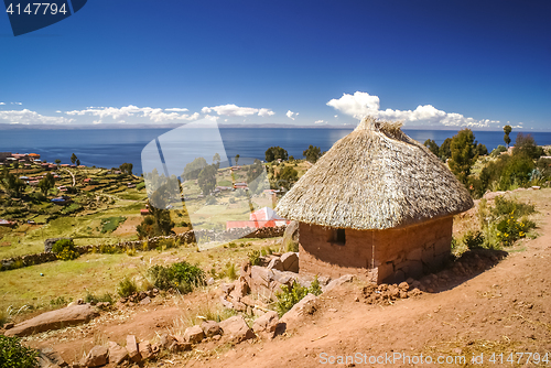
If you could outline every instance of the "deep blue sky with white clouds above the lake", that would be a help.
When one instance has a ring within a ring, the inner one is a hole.
[[[370,113],[550,130],[550,18],[551,1],[91,0],[14,37],[0,14],[0,123],[342,126]]]

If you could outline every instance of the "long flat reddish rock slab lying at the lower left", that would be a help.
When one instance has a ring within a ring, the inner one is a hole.
[[[89,322],[98,313],[88,304],[73,305],[42,313],[34,318],[18,323],[6,332],[6,336],[29,336],[46,331],[64,328]]]

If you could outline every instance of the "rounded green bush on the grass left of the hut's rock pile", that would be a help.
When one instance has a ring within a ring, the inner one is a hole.
[[[176,289],[183,294],[205,284],[205,272],[197,266],[185,261],[170,267],[153,266],[148,270],[148,273],[155,288],[161,290]]]

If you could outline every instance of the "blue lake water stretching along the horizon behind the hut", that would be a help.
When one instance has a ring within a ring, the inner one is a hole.
[[[0,130],[0,152],[39,153],[41,159],[69,163],[75,153],[82,164],[99,167],[118,167],[123,162],[134,165],[134,173],[141,173],[141,151],[156,137],[171,129],[78,129],[78,130]],[[272,145],[284,148],[289,155],[302,159],[302,152],[310,144],[328,150],[352,129],[307,128],[220,128],[220,136],[227,155],[233,158],[258,158]],[[452,130],[403,130],[411,138],[424,142],[433,139],[439,145],[453,137]],[[475,139],[491,151],[504,144],[503,131],[475,131]],[[518,132],[514,131],[511,144]],[[551,132],[531,132],[540,145],[551,144]],[[185,149],[185,148],[183,148]],[[207,159],[208,161],[208,159]]]

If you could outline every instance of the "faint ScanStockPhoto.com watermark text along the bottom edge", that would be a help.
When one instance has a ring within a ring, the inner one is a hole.
[[[353,355],[329,355],[327,353],[320,354],[320,364],[322,365],[465,365],[467,361],[463,355],[451,356],[440,355],[433,357],[431,355],[409,355],[406,353],[385,353],[380,355],[367,355],[364,353],[354,353]]]

